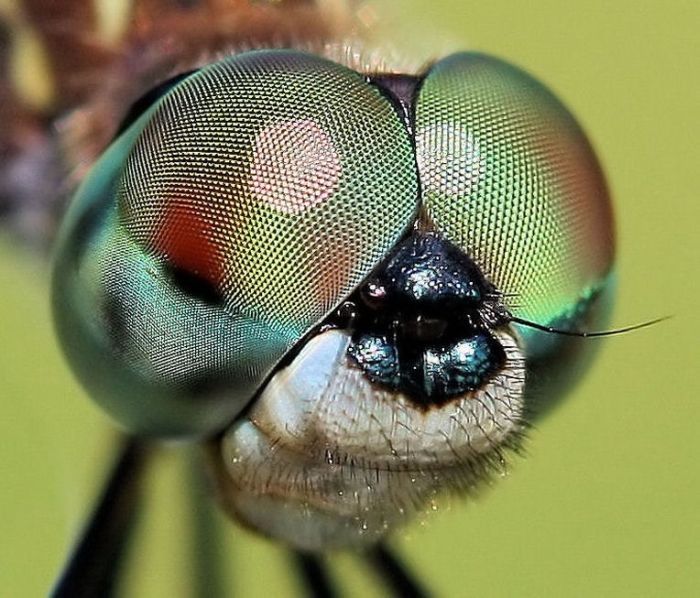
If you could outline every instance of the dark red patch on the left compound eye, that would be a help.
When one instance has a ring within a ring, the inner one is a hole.
[[[172,200],[156,226],[156,251],[173,266],[221,286],[224,268],[215,225],[200,206]]]

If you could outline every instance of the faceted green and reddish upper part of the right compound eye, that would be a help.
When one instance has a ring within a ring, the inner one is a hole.
[[[579,326],[609,282],[614,233],[600,166],[567,109],[512,65],[456,54],[420,89],[416,148],[424,225],[470,255],[514,315]],[[552,350],[522,332],[529,356]]]

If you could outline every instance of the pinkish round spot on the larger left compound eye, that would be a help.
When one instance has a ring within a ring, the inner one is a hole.
[[[317,123],[276,122],[255,138],[250,190],[255,200],[296,214],[332,197],[341,172],[333,139]]]

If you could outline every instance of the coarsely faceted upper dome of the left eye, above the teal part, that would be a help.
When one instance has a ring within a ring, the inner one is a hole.
[[[297,339],[410,225],[417,177],[407,132],[359,74],[262,51],[166,96],[117,202],[147,252]]]

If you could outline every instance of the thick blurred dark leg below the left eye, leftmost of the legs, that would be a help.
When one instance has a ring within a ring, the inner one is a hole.
[[[102,496],[51,593],[54,598],[114,594],[138,512],[147,455],[143,441],[122,441]]]

